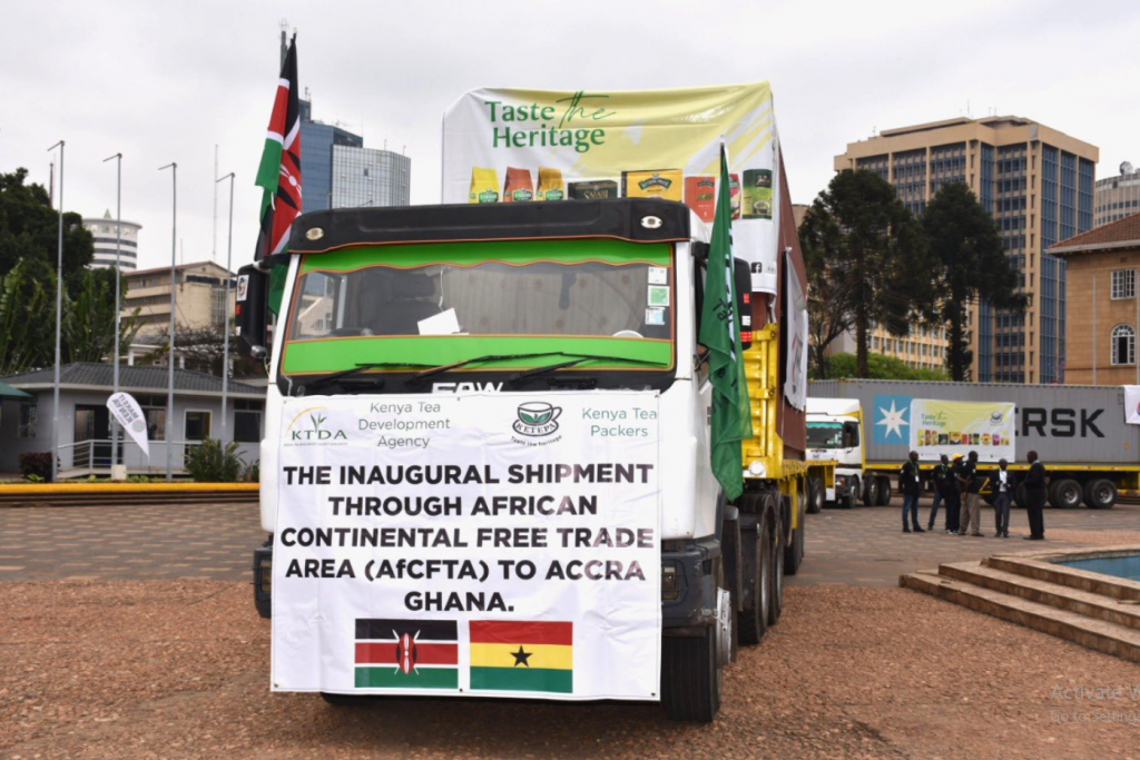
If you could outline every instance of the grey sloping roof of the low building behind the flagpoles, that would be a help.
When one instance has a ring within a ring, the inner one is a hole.
[[[51,387],[55,382],[55,370],[36,369],[30,373],[5,377],[3,382],[19,387]],[[120,367],[119,387],[123,390],[165,391],[168,369],[165,367]],[[60,387],[114,387],[114,367],[98,365],[92,361],[76,361],[59,368]],[[221,378],[189,369],[174,369],[174,391],[180,393],[218,394],[221,395]],[[239,383],[229,382],[229,393],[233,395],[264,395],[264,390]]]

